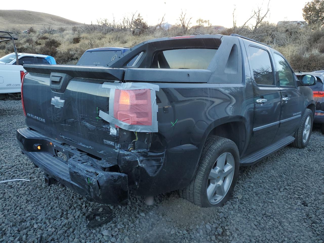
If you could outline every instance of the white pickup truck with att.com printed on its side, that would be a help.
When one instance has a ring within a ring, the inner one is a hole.
[[[48,55],[17,53],[17,56],[19,65],[16,64],[15,52],[0,58],[0,99],[8,94],[20,98],[21,79],[26,73],[24,64],[56,64],[55,59]]]

